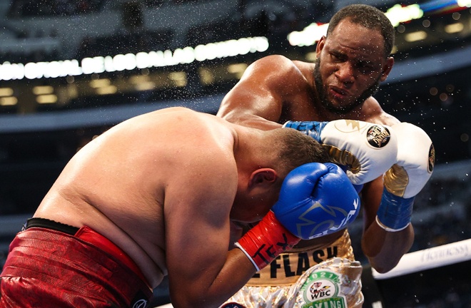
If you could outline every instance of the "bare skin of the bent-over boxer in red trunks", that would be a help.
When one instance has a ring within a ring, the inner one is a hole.
[[[78,151],[34,217],[101,233],[152,288],[169,274],[175,307],[213,307],[255,273],[241,250],[227,249],[230,219],[258,221],[278,197],[245,190],[267,157],[244,153],[258,153],[252,145],[265,133],[184,108],[132,118]]]

